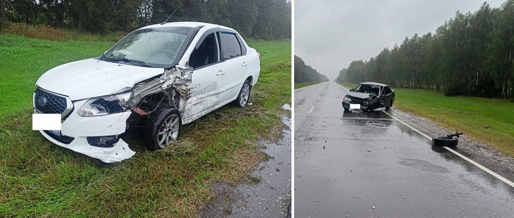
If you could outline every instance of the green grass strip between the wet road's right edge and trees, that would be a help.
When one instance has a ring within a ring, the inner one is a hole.
[[[458,129],[473,140],[514,157],[514,103],[494,98],[448,97],[436,90],[393,89],[394,107],[428,117],[450,130]]]

